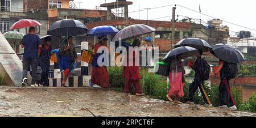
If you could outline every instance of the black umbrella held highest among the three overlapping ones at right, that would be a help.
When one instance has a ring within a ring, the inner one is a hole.
[[[191,46],[193,48],[203,50],[203,52],[209,52],[212,50],[212,46],[210,46],[207,41],[198,38],[183,39],[174,45],[175,48],[179,46]]]

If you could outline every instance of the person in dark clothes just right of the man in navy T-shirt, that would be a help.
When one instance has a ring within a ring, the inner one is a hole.
[[[51,52],[52,52],[51,38],[47,37],[45,39],[44,44],[42,45],[42,48],[39,48],[38,50],[39,65],[42,69],[39,86],[44,86],[44,87],[49,86],[48,75],[50,70],[49,67],[50,67]]]

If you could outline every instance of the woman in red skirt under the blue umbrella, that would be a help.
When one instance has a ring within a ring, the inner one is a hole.
[[[93,49],[93,62],[92,62],[92,86],[93,87],[102,87],[108,88],[109,87],[109,74],[106,66],[99,66],[97,63],[97,59],[102,54],[108,53],[97,53],[99,49],[107,48],[107,41],[108,38],[106,36],[101,36],[99,38],[98,43],[94,46]]]

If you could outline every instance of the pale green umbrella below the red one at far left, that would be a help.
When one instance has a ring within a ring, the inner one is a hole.
[[[24,34],[21,32],[16,32],[16,31],[10,31],[3,33],[3,36],[9,41],[11,45],[18,45],[15,44],[16,42],[19,42],[23,39]]]

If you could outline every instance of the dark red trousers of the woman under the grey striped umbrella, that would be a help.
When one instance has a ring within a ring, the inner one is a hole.
[[[136,93],[142,93],[141,86],[139,86],[139,80],[129,80],[129,79],[126,79],[125,81],[125,90],[124,90],[125,93],[130,92],[131,84],[133,84],[133,86],[135,87]]]

